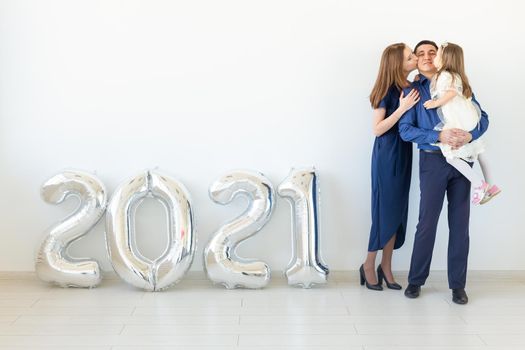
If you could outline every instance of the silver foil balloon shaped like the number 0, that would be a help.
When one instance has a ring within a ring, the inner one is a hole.
[[[168,216],[168,247],[154,261],[140,254],[135,239],[135,212],[147,196],[158,199]],[[195,254],[188,191],[176,180],[153,170],[125,182],[115,191],[108,206],[106,244],[115,272],[127,283],[159,291],[179,282]]]

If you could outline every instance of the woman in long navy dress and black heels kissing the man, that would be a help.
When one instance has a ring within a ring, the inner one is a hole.
[[[403,95],[410,86],[408,74],[417,68],[417,57],[403,44],[388,46],[381,57],[377,80],[370,94],[373,131],[372,152],[372,228],[366,261],[359,268],[361,285],[383,290],[383,279],[390,289],[402,289],[392,274],[392,253],[405,241],[408,192],[412,171],[412,143],[401,140],[398,121],[419,101],[416,90]],[[383,250],[375,275],[378,250]]]

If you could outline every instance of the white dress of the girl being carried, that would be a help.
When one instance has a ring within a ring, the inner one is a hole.
[[[463,96],[463,83],[459,75],[455,74],[454,79],[452,74],[443,71],[439,74],[437,80],[433,81],[430,86],[430,95],[432,99],[440,98],[445,92],[453,90],[457,95],[445,105],[438,108],[437,113],[441,119],[441,123],[437,125],[435,130],[447,129],[462,129],[471,131],[479,127],[478,123],[481,117],[479,107],[472,102],[472,98],[465,98]],[[485,150],[483,141],[480,139],[474,140],[457,150],[453,150],[450,145],[438,143],[437,146],[443,152],[446,158],[461,158],[468,162],[473,162],[477,159],[478,154]]]

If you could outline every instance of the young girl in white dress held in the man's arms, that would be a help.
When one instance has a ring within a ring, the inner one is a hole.
[[[463,50],[460,46],[445,43],[438,49],[434,65],[438,72],[432,79],[430,93],[432,100],[424,103],[425,108],[438,108],[442,123],[437,130],[474,129],[480,119],[480,110],[472,102],[472,89],[465,74]],[[458,149],[450,145],[437,144],[447,159],[447,162],[462,173],[474,186],[473,204],[484,204],[496,196],[501,190],[496,185],[489,185],[488,169],[483,162],[481,153],[485,150],[483,141],[474,140]],[[466,162],[478,160],[484,178],[479,176]]]

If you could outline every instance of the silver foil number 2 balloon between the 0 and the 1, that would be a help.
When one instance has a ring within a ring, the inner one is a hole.
[[[204,268],[214,283],[232,288],[263,288],[270,280],[270,267],[262,261],[245,260],[235,254],[237,245],[253,236],[270,219],[275,192],[261,173],[234,171],[216,180],[210,198],[228,204],[239,195],[246,196],[249,207],[233,221],[223,225],[204,249]]]

